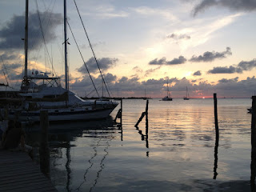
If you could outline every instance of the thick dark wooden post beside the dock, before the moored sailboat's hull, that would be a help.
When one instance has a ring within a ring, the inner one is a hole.
[[[40,168],[42,174],[49,177],[50,172],[50,151],[48,147],[48,111],[41,110],[40,112],[40,129],[41,129],[41,141],[40,141]]]

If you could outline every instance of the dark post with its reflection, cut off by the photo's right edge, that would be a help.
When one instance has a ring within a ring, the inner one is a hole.
[[[256,96],[252,96],[252,114],[251,114],[251,163],[250,163],[250,184],[254,188],[255,170],[256,170]]]

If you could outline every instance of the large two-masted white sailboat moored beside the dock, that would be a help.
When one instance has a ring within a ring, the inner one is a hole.
[[[65,88],[61,86],[59,77],[50,77],[49,73],[28,75],[28,0],[26,0],[26,27],[25,27],[25,70],[21,92],[22,107],[10,110],[10,119],[20,122],[40,121],[41,110],[48,110],[50,122],[78,121],[106,118],[118,106],[118,102],[94,100],[86,101],[69,90],[67,70],[67,38],[66,38],[66,0],[64,1],[64,43],[65,43]],[[41,81],[38,85],[36,82]]]

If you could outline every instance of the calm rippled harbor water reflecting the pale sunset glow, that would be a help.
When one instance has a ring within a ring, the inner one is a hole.
[[[250,106],[218,98],[215,180],[213,98],[150,99],[148,139],[145,118],[134,127],[139,99],[123,100],[122,130],[113,123],[120,106],[103,121],[50,125],[50,178],[59,191],[250,191]],[[38,133],[28,142],[38,146]]]

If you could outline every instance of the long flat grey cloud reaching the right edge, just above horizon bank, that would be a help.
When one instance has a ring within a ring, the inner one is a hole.
[[[244,70],[252,70],[254,67],[256,67],[256,59],[249,62],[239,62],[238,65],[234,66],[217,66],[214,67],[213,70],[208,70],[209,74],[242,74]]]

